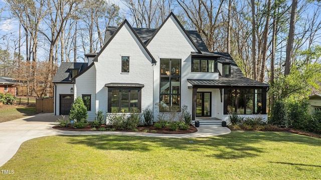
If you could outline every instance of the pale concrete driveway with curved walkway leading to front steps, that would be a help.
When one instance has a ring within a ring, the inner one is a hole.
[[[131,135],[147,137],[208,137],[230,133],[227,127],[198,127],[198,131],[190,134],[157,134],[142,132],[115,132],[115,131],[63,131],[53,129],[57,125],[56,120],[61,116],[54,116],[53,113],[37,114],[21,119],[0,123],[0,166],[11,159],[19,149],[20,145],[33,138],[50,135]]]

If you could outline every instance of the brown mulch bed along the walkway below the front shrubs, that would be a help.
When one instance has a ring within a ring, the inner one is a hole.
[[[111,126],[109,125],[101,125],[100,127],[105,127],[105,128],[111,128]],[[96,130],[92,130],[92,127],[90,125],[87,125],[85,128],[83,129],[75,129],[72,126],[68,126],[68,127],[59,127],[58,125],[54,126],[53,128],[55,129],[59,129],[59,130],[67,130],[67,131],[98,131],[99,127],[96,128]],[[146,129],[148,129],[148,131],[146,131]],[[188,133],[193,133],[193,132],[197,132],[196,127],[194,127],[193,125],[190,125],[190,128],[187,130],[177,130],[177,131],[172,131],[170,130],[168,127],[164,127],[162,129],[156,129],[153,126],[138,126],[137,127],[138,131],[133,131],[130,129],[126,129],[126,130],[121,130],[121,129],[117,129],[115,131],[126,131],[126,132],[148,132],[148,133],[159,133],[159,134],[188,134]],[[145,131],[144,131],[145,130]],[[156,132],[151,132],[152,130],[156,130]],[[110,130],[105,130],[105,131],[110,131]]]

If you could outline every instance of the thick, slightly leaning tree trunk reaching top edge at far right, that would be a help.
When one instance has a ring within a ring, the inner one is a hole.
[[[284,67],[284,75],[290,74],[290,66],[292,59],[292,51],[293,51],[293,41],[295,34],[295,22],[296,22],[296,10],[297,10],[297,0],[292,0],[292,8],[291,8],[291,18],[290,18],[290,29],[289,36],[286,44],[286,57],[285,57],[285,67]]]

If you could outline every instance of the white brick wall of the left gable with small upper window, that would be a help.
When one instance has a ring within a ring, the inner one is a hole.
[[[121,56],[129,56],[129,73],[121,73]],[[153,66],[151,58],[139,44],[127,24],[101,52],[96,66],[96,108],[107,111],[107,83],[139,83],[141,108],[152,107]]]

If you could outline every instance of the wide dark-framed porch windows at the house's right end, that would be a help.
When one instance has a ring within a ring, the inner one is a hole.
[[[262,114],[262,89],[228,89],[227,112]]]

